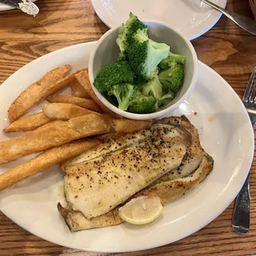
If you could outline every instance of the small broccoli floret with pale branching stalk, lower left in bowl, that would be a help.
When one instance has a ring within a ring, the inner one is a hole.
[[[115,84],[108,95],[114,95],[118,102],[118,108],[126,111],[130,105],[130,97],[135,92],[135,87],[130,83]]]

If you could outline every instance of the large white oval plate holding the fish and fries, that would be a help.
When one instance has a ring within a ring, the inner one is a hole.
[[[7,140],[7,109],[29,84],[63,64],[83,69],[95,42],[73,45],[32,61],[0,87],[0,140]],[[36,111],[36,110],[35,110]],[[37,110],[38,111],[38,110]],[[194,112],[197,111],[197,115]],[[189,100],[173,113],[185,114],[200,131],[201,144],[215,159],[206,180],[164,206],[163,215],[149,225],[116,225],[71,233],[57,211],[64,201],[58,166],[0,193],[0,209],[25,230],[55,244],[97,252],[149,249],[172,243],[200,230],[225,210],[242,187],[254,154],[254,132],[239,97],[223,78],[199,62],[197,86]],[[13,135],[12,135],[13,136]],[[0,165],[3,173],[30,159]]]

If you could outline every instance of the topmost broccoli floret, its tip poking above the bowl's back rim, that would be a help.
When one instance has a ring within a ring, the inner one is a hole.
[[[118,37],[116,39],[116,44],[119,46],[121,50],[121,57],[126,55],[127,45],[129,44],[132,36],[138,30],[148,30],[148,27],[141,22],[138,17],[135,17],[130,12],[130,18],[123,24],[118,31]]]

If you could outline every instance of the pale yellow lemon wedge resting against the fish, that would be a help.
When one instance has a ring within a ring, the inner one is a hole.
[[[159,197],[137,197],[119,208],[119,216],[128,223],[143,225],[158,218],[162,211]]]

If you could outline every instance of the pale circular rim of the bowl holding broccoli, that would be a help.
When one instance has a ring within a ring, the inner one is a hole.
[[[189,48],[189,50],[192,53],[192,62],[193,62],[193,66],[194,66],[194,73],[192,76],[192,82],[190,83],[190,86],[187,88],[187,91],[183,94],[183,96],[177,101],[175,102],[173,105],[161,110],[161,111],[157,111],[154,113],[149,113],[149,114],[135,114],[135,113],[130,113],[128,111],[122,111],[121,109],[119,109],[118,107],[114,106],[111,104],[111,102],[108,102],[107,99],[105,97],[102,96],[102,93],[99,92],[97,90],[97,88],[93,85],[94,82],[94,76],[92,73],[92,64],[93,64],[93,60],[94,57],[96,55],[97,49],[99,47],[99,45],[101,45],[102,41],[105,40],[107,38],[107,36],[109,36],[113,31],[116,31],[119,29],[120,26],[116,26],[111,28],[109,31],[107,31],[98,41],[97,41],[97,45],[94,48],[94,50],[92,51],[92,55],[90,56],[89,59],[89,64],[88,64],[88,74],[89,74],[89,80],[90,83],[92,85],[92,89],[95,92],[96,96],[99,98],[99,100],[111,111],[115,112],[116,114],[120,115],[120,116],[124,116],[126,118],[129,119],[134,119],[134,120],[150,120],[150,119],[157,119],[159,117],[162,116],[166,116],[168,115],[168,113],[174,111],[175,109],[177,109],[189,96],[190,92],[192,92],[192,89],[195,87],[196,83],[197,83],[197,53],[196,50],[194,49],[192,43],[190,42],[190,40],[188,40],[185,36],[183,36],[183,34],[181,32],[179,32],[178,30],[168,26],[167,23],[163,22],[163,21],[156,21],[156,20],[149,20],[149,21],[143,21],[143,22],[150,22],[150,23],[155,23],[155,24],[159,24],[159,25],[163,25],[168,27],[168,29],[174,31],[175,33],[177,33],[179,36],[182,37],[182,39],[187,43],[187,46]]]

